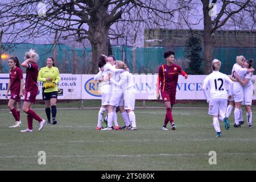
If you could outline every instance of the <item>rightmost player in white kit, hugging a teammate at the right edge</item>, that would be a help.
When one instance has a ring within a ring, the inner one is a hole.
[[[243,64],[244,68],[251,68],[253,67],[253,60],[246,60]],[[246,118],[247,118],[247,127],[252,126],[252,118],[253,115],[251,113],[251,102],[253,100],[253,83],[251,82],[251,77],[253,76],[253,73],[246,73],[243,80],[238,76],[237,73],[234,73],[234,76],[236,77],[236,80],[240,82],[243,86],[243,102],[242,105],[245,105],[246,109]]]

